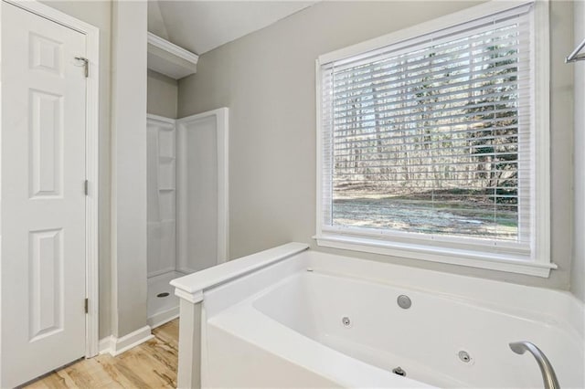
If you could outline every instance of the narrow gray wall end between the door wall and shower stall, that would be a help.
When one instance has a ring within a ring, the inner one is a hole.
[[[112,335],[146,326],[146,17],[112,6]]]

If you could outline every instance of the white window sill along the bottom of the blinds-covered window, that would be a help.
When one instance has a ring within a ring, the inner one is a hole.
[[[348,237],[322,234],[314,237],[317,246],[381,254],[392,257],[412,258],[471,268],[487,268],[508,273],[548,278],[554,263],[537,263],[522,258],[489,253],[477,253],[462,249],[437,248],[415,244],[382,241],[367,237]]]

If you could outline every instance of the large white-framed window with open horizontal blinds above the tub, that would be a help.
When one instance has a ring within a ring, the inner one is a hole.
[[[317,60],[319,245],[548,276],[538,6],[488,3]]]

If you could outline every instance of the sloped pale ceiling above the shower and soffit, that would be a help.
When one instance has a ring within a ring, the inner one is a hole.
[[[148,0],[148,31],[201,55],[314,3]]]

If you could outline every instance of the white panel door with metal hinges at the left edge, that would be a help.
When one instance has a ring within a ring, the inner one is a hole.
[[[2,2],[2,387],[85,353],[85,50]]]

